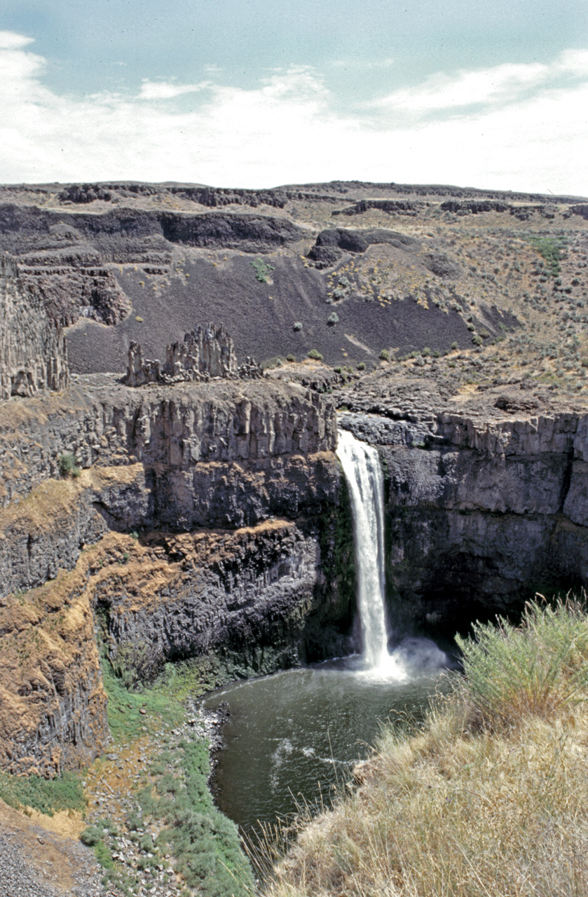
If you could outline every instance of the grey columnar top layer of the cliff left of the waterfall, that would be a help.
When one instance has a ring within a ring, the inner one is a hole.
[[[138,390],[97,374],[63,396],[39,396],[19,414],[16,427],[13,409],[0,405],[4,507],[57,477],[64,452],[83,468],[140,462],[157,492],[169,476],[189,483],[198,463],[265,462],[332,451],[337,443],[328,396],[266,379]]]

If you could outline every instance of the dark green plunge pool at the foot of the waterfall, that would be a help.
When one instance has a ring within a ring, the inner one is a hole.
[[[382,723],[422,718],[429,695],[447,684],[438,669],[378,678],[347,658],[213,692],[205,707],[225,701],[230,712],[215,775],[218,806],[251,832],[297,805],[328,805]]]

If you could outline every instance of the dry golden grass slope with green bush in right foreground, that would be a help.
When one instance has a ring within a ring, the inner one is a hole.
[[[412,735],[393,727],[358,787],[301,827],[272,897],[588,893],[588,618],[528,605],[463,641],[469,678]]]

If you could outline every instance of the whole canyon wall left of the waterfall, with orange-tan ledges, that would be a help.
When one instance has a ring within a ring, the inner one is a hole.
[[[349,648],[353,546],[324,397],[104,375],[0,405],[0,436],[8,769],[104,748],[97,622],[137,677],[213,652],[235,677]],[[75,475],[60,476],[64,456]]]

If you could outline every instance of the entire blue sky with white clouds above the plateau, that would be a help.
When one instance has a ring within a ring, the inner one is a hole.
[[[0,0],[0,182],[588,196],[585,0]]]

